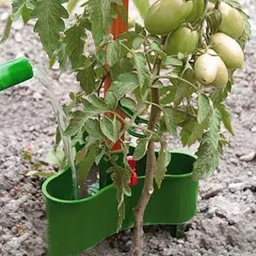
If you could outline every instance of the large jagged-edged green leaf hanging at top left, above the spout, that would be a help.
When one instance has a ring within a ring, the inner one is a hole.
[[[51,58],[58,46],[60,32],[65,30],[62,18],[69,18],[69,14],[59,0],[38,0],[32,16],[38,18],[34,31],[39,34],[42,45]]]

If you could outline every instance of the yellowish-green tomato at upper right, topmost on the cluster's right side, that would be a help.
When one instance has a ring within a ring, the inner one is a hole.
[[[245,20],[238,10],[232,8],[226,2],[221,3],[222,23],[218,30],[231,38],[240,38],[245,31]]]

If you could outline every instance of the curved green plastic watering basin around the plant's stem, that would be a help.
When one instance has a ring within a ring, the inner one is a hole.
[[[171,233],[177,237],[196,213],[198,182],[191,178],[194,155],[172,151],[171,159],[162,188],[155,187],[146,208],[144,224],[170,224]],[[146,156],[137,162],[138,174],[143,174],[145,168]],[[131,187],[132,196],[125,198],[126,219],[122,230],[134,225],[133,207],[141,194],[143,180],[140,176],[138,184]],[[72,200],[71,172],[67,168],[48,178],[42,192],[46,197],[48,255],[77,255],[116,233],[118,212],[113,185],[103,187],[89,198]]]

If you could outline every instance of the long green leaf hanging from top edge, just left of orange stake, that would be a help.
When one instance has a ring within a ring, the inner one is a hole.
[[[90,0],[88,12],[91,21],[91,32],[96,46],[102,42],[106,34],[108,18],[110,16],[110,0]]]

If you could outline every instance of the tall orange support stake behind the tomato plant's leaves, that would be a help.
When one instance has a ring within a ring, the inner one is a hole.
[[[129,7],[129,0],[123,0],[123,6],[126,10],[126,14],[128,17],[128,7]],[[118,12],[118,18],[114,19],[112,21],[112,26],[110,29],[110,33],[114,35],[114,39],[118,38],[118,36],[124,32],[126,32],[127,27],[125,22],[123,22],[121,15]],[[104,82],[104,94],[106,95],[107,90],[110,88],[111,85],[111,78],[110,76],[106,78],[105,82]],[[120,114],[122,116],[122,118],[125,118],[125,115],[117,110],[118,114]],[[121,130],[124,129],[124,126],[122,124]],[[112,148],[112,150],[120,150],[121,149],[121,142],[116,142]]]

